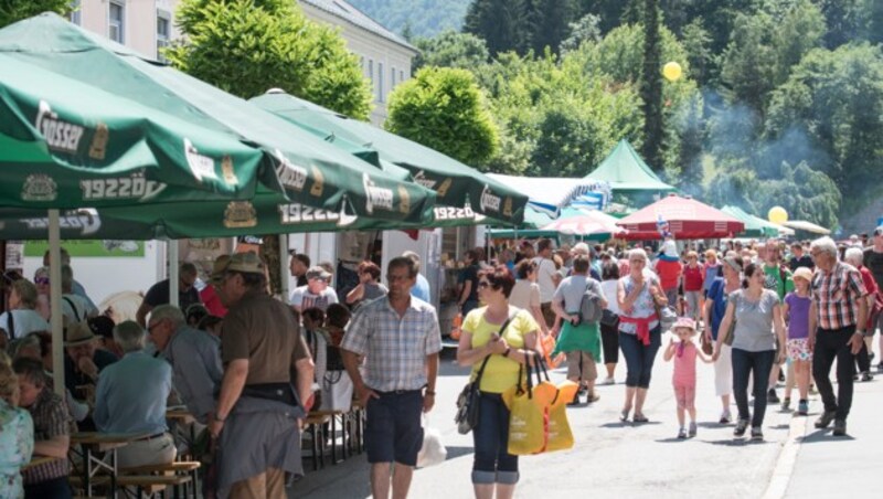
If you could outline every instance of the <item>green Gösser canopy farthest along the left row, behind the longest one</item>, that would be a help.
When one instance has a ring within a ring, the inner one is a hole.
[[[381,161],[407,169],[415,182],[436,191],[439,205],[468,205],[510,224],[523,217],[525,195],[434,149],[281,92],[249,102],[330,144],[375,150]]]

